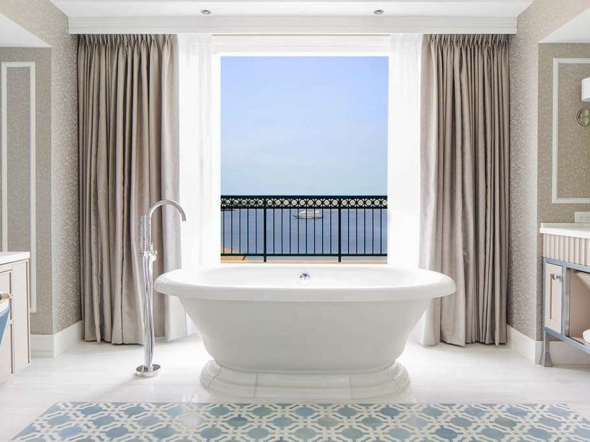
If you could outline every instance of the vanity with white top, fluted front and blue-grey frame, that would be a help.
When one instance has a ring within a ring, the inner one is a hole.
[[[550,337],[590,354],[590,225],[542,224],[543,346],[550,367]]]

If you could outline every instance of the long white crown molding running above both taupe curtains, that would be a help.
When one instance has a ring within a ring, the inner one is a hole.
[[[516,34],[515,17],[70,17],[70,34]]]

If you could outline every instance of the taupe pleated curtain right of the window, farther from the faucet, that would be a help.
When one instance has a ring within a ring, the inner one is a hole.
[[[435,299],[422,341],[506,342],[509,70],[506,35],[427,35],[422,46],[421,266]]]

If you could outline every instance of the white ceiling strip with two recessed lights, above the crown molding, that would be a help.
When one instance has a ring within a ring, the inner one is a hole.
[[[357,1],[194,1],[194,0],[51,0],[68,17],[186,17],[201,16],[389,16],[517,17],[532,0],[357,0]]]

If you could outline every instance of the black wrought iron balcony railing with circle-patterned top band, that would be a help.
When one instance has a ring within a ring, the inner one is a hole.
[[[387,197],[221,197],[221,255],[387,256]]]

